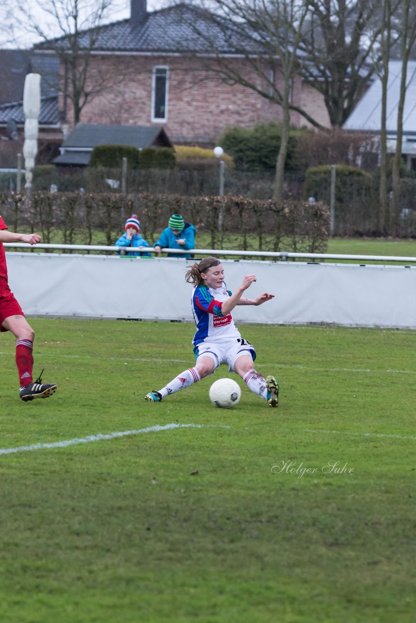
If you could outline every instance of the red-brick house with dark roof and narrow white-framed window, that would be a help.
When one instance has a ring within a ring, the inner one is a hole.
[[[164,128],[173,143],[206,146],[213,145],[228,126],[249,128],[258,121],[279,121],[278,105],[249,88],[226,84],[203,69],[203,61],[196,54],[203,57],[206,45],[188,25],[197,18],[201,18],[198,9],[187,4],[147,12],[146,0],[131,0],[130,19],[100,27],[88,80],[91,86],[104,79],[105,88],[90,97],[80,121],[156,125]],[[236,57],[226,41],[223,49],[225,56]],[[35,50],[39,55],[51,53],[47,43],[36,45]],[[65,71],[61,66],[62,83],[67,84]],[[248,78],[260,80],[250,75],[249,69],[247,72]],[[279,80],[278,69],[274,79]],[[301,78],[294,80],[292,97],[322,125],[330,125],[322,96]],[[59,112],[71,130],[73,110],[62,89]],[[299,113],[293,113],[292,122],[308,125]]]

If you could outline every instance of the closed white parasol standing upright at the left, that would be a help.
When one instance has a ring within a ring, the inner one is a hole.
[[[35,166],[37,154],[37,132],[39,128],[38,118],[41,110],[41,76],[40,74],[27,74],[23,89],[23,112],[24,112],[24,168],[26,169],[26,194],[29,196],[32,189],[32,169]]]

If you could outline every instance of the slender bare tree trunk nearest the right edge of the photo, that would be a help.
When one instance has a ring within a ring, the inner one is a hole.
[[[393,225],[397,226],[397,205],[399,203],[400,193],[400,164],[402,162],[402,144],[403,144],[403,113],[406,95],[407,81],[407,65],[413,45],[416,42],[416,5],[414,0],[402,0],[400,5],[402,11],[401,22],[401,51],[402,51],[402,75],[400,78],[400,95],[397,112],[397,141],[396,150],[393,158],[392,169],[392,202],[391,216]]]

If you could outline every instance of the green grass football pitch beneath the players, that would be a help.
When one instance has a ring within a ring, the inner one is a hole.
[[[1,334],[2,623],[415,621],[415,331],[240,326],[280,406],[223,410],[143,401],[190,323],[31,324],[58,391],[19,401]]]

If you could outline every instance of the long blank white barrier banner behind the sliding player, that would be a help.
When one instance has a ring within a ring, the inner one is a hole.
[[[143,320],[193,320],[193,260],[103,255],[7,253],[9,284],[29,315]],[[275,298],[260,307],[241,305],[237,323],[334,323],[416,328],[416,267],[223,260],[227,287],[243,276],[246,291]]]

